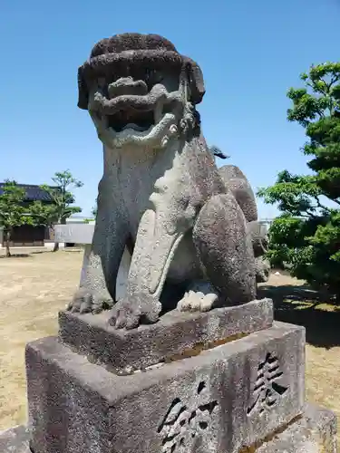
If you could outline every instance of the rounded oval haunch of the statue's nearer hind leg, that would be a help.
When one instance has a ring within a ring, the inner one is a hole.
[[[242,209],[230,192],[210,198],[201,208],[192,237],[209,283],[219,294],[219,306],[255,299],[251,238]]]

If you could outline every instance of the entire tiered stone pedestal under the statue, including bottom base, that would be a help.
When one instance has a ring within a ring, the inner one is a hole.
[[[270,300],[130,332],[107,316],[60,313],[59,337],[27,345],[28,429],[0,451],[335,453],[334,414],[305,403],[305,330]]]

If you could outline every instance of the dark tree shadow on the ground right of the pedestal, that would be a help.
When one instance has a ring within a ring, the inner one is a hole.
[[[273,299],[277,321],[306,327],[309,344],[326,349],[340,345],[340,307],[331,305],[325,294],[287,284],[263,285],[258,296]]]

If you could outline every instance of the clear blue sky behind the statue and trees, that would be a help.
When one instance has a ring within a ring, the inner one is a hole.
[[[75,195],[89,215],[102,146],[76,106],[77,68],[94,43],[124,32],[162,34],[199,63],[206,139],[254,188],[272,184],[281,169],[306,172],[304,130],[287,122],[286,92],[311,63],[339,59],[339,24],[340,0],[4,1],[0,180],[49,183],[71,169],[83,180]],[[260,217],[276,215],[258,207]]]

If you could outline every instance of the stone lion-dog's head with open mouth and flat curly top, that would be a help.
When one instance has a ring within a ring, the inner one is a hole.
[[[157,34],[102,39],[79,68],[78,84],[78,106],[90,112],[109,148],[165,147],[180,131],[199,127],[199,65]]]

